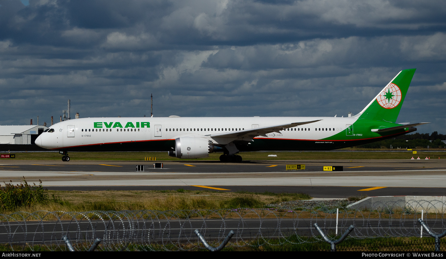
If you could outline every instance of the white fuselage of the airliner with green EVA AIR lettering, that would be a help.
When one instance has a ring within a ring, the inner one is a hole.
[[[98,117],[62,121],[51,125],[54,132],[45,132],[36,144],[46,149],[64,150],[129,142],[174,140],[184,136],[203,137],[225,145],[235,139],[212,137],[212,134],[234,132],[269,125],[314,121],[292,129],[270,133],[255,139],[319,140],[329,138],[353,124],[353,117]],[[315,130],[316,129],[316,130]],[[320,130],[323,129],[323,130]],[[166,148],[162,148],[166,150]],[[139,149],[138,149],[139,150]],[[160,150],[162,151],[162,150]]]

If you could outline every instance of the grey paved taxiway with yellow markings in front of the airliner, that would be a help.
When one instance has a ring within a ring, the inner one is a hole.
[[[8,162],[8,163],[5,163]],[[444,196],[446,160],[308,160],[245,161],[24,161],[0,160],[4,181],[43,181],[54,190],[162,190],[305,192],[313,197]],[[286,171],[286,164],[305,164],[306,170]],[[145,165],[145,171],[136,171]],[[322,171],[343,166],[344,171]]]

